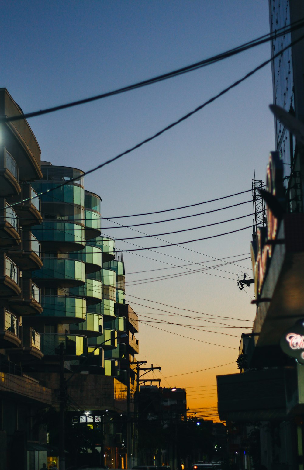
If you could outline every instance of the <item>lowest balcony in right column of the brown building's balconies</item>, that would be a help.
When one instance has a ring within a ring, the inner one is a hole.
[[[11,348],[9,356],[15,361],[31,361],[41,359],[43,353],[41,351],[40,335],[31,327],[20,327],[22,331],[22,346],[19,348]]]

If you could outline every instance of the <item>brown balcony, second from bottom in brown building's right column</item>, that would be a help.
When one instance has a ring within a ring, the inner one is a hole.
[[[19,315],[36,315],[42,313],[39,287],[31,279],[21,278],[22,292],[17,298],[10,298],[8,302]]]

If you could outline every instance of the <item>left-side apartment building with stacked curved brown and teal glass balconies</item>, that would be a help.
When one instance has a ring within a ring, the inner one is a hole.
[[[22,114],[0,89],[0,115]],[[1,132],[0,469],[126,468],[139,344],[123,255],[83,172],[41,161],[25,119]]]

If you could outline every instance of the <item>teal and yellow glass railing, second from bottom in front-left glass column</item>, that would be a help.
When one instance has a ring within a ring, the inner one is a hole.
[[[84,298],[43,296],[41,305],[42,316],[67,317],[83,320],[86,316],[86,300]]]

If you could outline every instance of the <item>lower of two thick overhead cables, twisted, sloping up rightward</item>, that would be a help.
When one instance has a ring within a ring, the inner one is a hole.
[[[301,24],[301,27],[302,27],[302,24]],[[130,149],[127,149],[125,150],[124,152],[118,154],[116,157],[113,157],[113,158],[110,158],[109,160],[95,166],[94,168],[92,168],[91,170],[88,170],[86,172],[83,172],[80,176],[77,176],[75,178],[71,178],[70,180],[67,180],[63,183],[61,183],[60,185],[58,186],[55,186],[54,188],[50,188],[50,189],[47,189],[47,191],[45,192],[41,192],[39,194],[37,194],[37,196],[33,196],[33,197],[28,197],[26,199],[23,199],[22,201],[19,201],[17,203],[14,203],[14,204],[11,204],[9,205],[8,207],[13,207],[14,205],[16,204],[21,204],[25,201],[29,201],[31,199],[35,199],[36,197],[39,197],[39,196],[42,196],[43,194],[47,194],[51,191],[54,191],[55,189],[58,189],[58,188],[62,188],[62,186],[65,186],[66,184],[70,184],[72,183],[73,181],[76,181],[76,180],[79,180],[80,178],[83,178],[85,175],[88,175],[90,173],[93,173],[95,172],[96,170],[100,170],[101,168],[103,168],[105,165],[108,165],[116,160],[118,160],[119,158],[123,157],[124,155],[127,155],[131,152],[133,152],[134,150],[136,149],[139,149],[140,147],[142,147],[143,145],[145,145],[146,143],[156,139],[157,137],[159,137],[160,135],[162,135],[163,133],[165,133],[166,131],[172,129],[173,127],[175,127],[176,125],[180,124],[181,122],[185,121],[186,119],[190,118],[192,115],[194,115],[195,113],[197,113],[198,111],[202,110],[205,106],[207,106],[208,104],[214,102],[215,100],[217,100],[220,96],[226,94],[228,91],[230,91],[231,89],[233,89],[235,86],[238,86],[240,85],[240,83],[242,83],[244,80],[246,80],[247,78],[251,77],[254,73],[256,73],[257,71],[261,70],[263,67],[265,67],[265,65],[267,65],[268,63],[272,62],[276,57],[278,57],[279,55],[281,55],[285,50],[289,49],[290,47],[294,46],[297,42],[301,41],[302,39],[304,39],[304,35],[302,35],[300,38],[296,39],[295,41],[291,42],[290,44],[288,44],[288,46],[284,47],[283,49],[281,49],[277,54],[274,54],[270,59],[266,60],[265,62],[261,63],[260,65],[258,65],[255,69],[253,69],[252,71],[248,72],[246,75],[244,75],[242,78],[239,78],[236,82],[234,82],[232,85],[229,85],[227,86],[225,89],[223,89],[221,92],[219,92],[218,94],[214,95],[212,98],[210,98],[209,100],[207,100],[206,102],[204,102],[203,104],[201,104],[200,106],[198,106],[197,108],[195,108],[194,110],[188,112],[187,114],[185,114],[184,116],[182,116],[181,118],[177,119],[176,121],[172,122],[171,124],[165,126],[163,129],[161,129],[160,131],[156,132],[155,134],[153,134],[152,136],[148,137],[147,139],[144,139],[143,141],[139,142],[138,144],[134,145],[133,147],[131,147]],[[83,100],[82,100],[83,101]],[[81,101],[81,102],[82,102]],[[91,100],[92,101],[92,100]],[[77,102],[78,104],[80,104],[80,102]],[[69,105],[65,105],[65,107],[68,107]],[[57,107],[58,108],[58,107]],[[55,110],[55,109],[53,109]],[[39,111],[40,113],[43,113],[41,111]],[[30,113],[31,114],[31,113]],[[45,112],[44,112],[45,114]],[[22,117],[18,116],[17,118],[20,119],[20,118],[24,118],[25,115],[23,115]],[[8,122],[8,119],[11,119],[12,118],[4,118],[4,122]],[[6,121],[7,120],[7,121]],[[4,210],[5,208],[2,208],[2,210]]]

